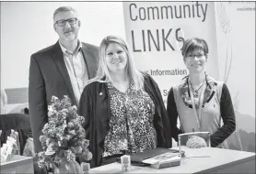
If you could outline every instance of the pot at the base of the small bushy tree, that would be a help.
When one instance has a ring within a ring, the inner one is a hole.
[[[54,174],[82,174],[83,171],[80,165],[75,161],[66,161],[64,160],[61,166],[53,169]]]

